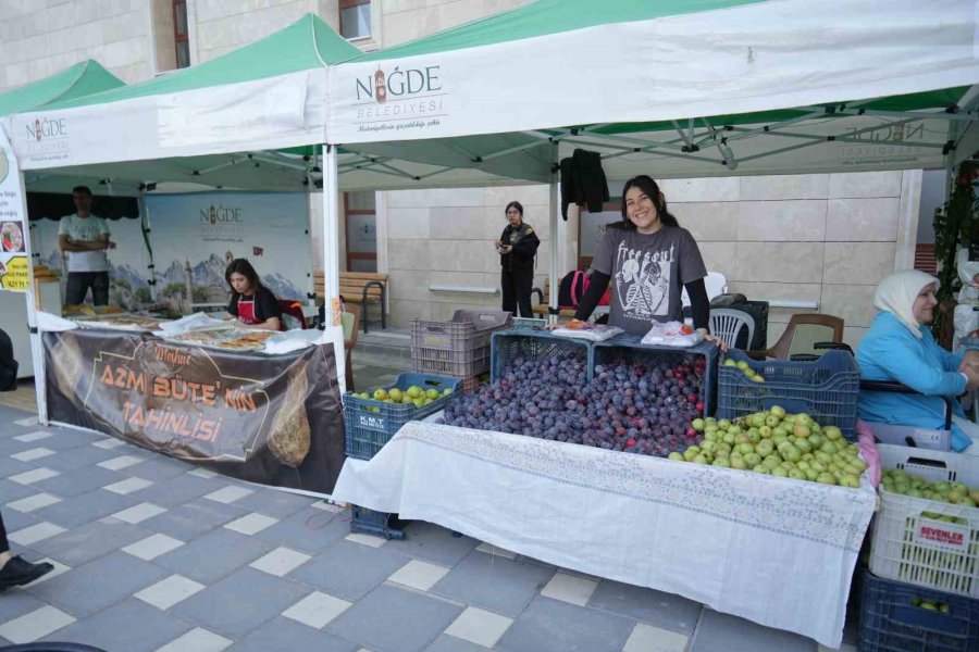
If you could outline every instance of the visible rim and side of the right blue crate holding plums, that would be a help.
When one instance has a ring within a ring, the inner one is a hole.
[[[627,363],[635,362],[643,366],[656,366],[666,362],[672,366],[691,364],[697,359],[704,358],[706,366],[698,393],[704,402],[704,415],[714,414],[717,406],[717,364],[720,349],[711,342],[701,342],[693,347],[678,349],[661,344],[643,344],[641,340],[640,337],[620,335],[604,342],[593,343],[588,361],[588,379],[594,377],[596,365],[609,364],[617,360],[623,360]]]

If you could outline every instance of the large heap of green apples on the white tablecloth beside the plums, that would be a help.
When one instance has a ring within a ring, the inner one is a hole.
[[[703,431],[703,441],[670,453],[670,460],[854,489],[867,469],[859,448],[840,428],[780,405],[734,421],[696,419],[693,427]]]

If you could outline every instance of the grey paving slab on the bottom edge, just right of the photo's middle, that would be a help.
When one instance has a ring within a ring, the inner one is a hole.
[[[538,597],[503,635],[496,650],[621,652],[633,625],[621,616]]]

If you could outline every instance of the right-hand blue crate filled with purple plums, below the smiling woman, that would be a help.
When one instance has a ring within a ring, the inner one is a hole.
[[[604,432],[625,448],[665,456],[698,438],[693,422],[714,413],[718,348],[677,348],[619,336],[592,346],[592,388]]]

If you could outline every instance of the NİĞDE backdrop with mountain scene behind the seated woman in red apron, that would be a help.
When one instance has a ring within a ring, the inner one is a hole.
[[[227,305],[224,272],[247,259],[280,299],[312,291],[307,197],[297,192],[195,192],[146,198],[159,300],[190,313]]]

